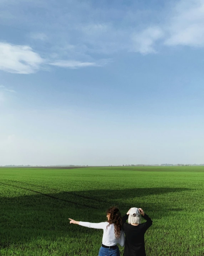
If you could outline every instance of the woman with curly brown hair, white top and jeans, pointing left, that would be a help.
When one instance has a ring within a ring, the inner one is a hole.
[[[74,221],[73,219],[70,219],[70,223],[102,229],[103,239],[98,256],[120,256],[117,243],[124,246],[121,213],[117,207],[111,207],[108,209],[106,217],[108,220],[101,223]]]

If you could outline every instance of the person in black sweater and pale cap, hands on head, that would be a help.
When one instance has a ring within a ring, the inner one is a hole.
[[[146,222],[141,224],[141,215]],[[126,223],[128,219],[128,223]],[[144,234],[152,226],[152,220],[141,208],[131,208],[122,218],[125,232],[125,247],[123,256],[146,256]]]

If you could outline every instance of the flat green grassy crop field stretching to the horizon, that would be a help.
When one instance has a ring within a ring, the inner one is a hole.
[[[204,255],[204,166],[0,168],[0,255],[97,256],[103,231],[68,218],[106,221],[115,205],[153,219],[147,256]]]

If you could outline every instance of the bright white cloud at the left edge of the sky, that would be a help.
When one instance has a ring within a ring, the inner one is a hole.
[[[0,43],[0,69],[10,73],[35,73],[44,60],[26,45]]]

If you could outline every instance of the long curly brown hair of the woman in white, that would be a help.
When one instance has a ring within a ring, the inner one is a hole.
[[[117,239],[119,239],[122,230],[122,218],[119,209],[113,206],[108,208],[106,214],[109,215],[109,220],[107,221],[109,224],[107,227],[110,226],[110,224],[114,224],[115,236]]]

